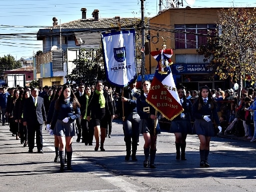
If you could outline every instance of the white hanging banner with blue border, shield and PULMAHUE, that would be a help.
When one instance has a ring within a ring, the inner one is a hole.
[[[135,30],[101,33],[106,78],[115,86],[127,86],[137,76]]]

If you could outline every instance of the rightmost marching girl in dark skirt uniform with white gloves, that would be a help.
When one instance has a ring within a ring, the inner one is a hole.
[[[215,135],[212,119],[218,125],[219,131],[221,131],[221,126],[217,115],[217,105],[207,86],[200,87],[198,99],[192,105],[192,114],[195,118],[193,129],[200,140],[200,167],[209,167],[210,137]]]

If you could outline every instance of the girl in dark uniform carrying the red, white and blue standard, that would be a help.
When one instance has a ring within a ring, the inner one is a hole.
[[[141,94],[137,98],[137,113],[140,117],[139,122],[139,130],[143,134],[144,137],[144,161],[143,166],[146,168],[155,168],[154,159],[156,152],[156,138],[157,138],[157,130],[155,125],[157,125],[157,115],[155,114],[155,109],[146,102],[146,97],[150,89],[150,81],[142,82],[143,94]],[[150,154],[150,162],[149,162],[149,154]]]

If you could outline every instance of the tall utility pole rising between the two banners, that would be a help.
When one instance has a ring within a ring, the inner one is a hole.
[[[144,27],[144,1],[141,1],[141,82],[145,80],[145,53],[144,53],[144,44],[145,44],[145,27]]]

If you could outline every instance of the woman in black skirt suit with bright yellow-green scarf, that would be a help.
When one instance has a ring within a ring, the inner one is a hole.
[[[106,136],[107,112],[114,118],[114,108],[111,98],[109,94],[103,90],[103,83],[97,81],[94,92],[90,94],[87,108],[87,120],[92,120],[94,126],[94,137],[96,140],[95,151],[97,151],[99,147],[99,132],[100,151],[105,151],[103,145]]]

